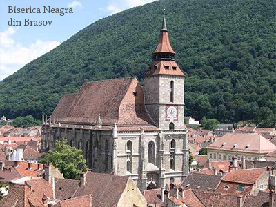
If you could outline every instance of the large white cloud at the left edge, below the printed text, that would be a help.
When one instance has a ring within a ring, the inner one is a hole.
[[[37,39],[29,46],[23,46],[12,38],[18,29],[10,26],[0,32],[0,81],[60,44],[59,41]]]

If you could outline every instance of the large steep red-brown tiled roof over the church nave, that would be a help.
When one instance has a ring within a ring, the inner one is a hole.
[[[73,98],[73,99],[72,99]],[[76,95],[65,95],[52,113],[61,124],[153,126],[144,106],[144,91],[136,78],[83,83]]]

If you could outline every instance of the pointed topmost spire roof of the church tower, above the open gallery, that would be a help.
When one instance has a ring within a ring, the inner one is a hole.
[[[162,26],[162,29],[160,30],[160,35],[159,35],[159,43],[155,48],[155,52],[152,52],[152,53],[153,54],[155,53],[175,54],[175,51],[172,49],[172,46],[170,46],[170,39],[168,38],[165,9],[164,9],[164,17],[163,17],[163,26]]]

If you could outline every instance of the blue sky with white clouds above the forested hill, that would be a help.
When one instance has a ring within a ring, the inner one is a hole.
[[[152,1],[155,0],[0,0],[0,81],[59,46],[90,23]],[[44,13],[44,6],[59,12]],[[26,8],[31,8],[34,13],[30,10],[26,13]],[[37,13],[38,8],[40,13]],[[72,8],[72,13],[61,16],[61,8]],[[18,9],[25,9],[25,12],[18,12]],[[12,22],[17,21],[17,25],[9,26],[11,19]],[[25,19],[29,19],[29,24],[30,21],[52,23],[26,26]]]

